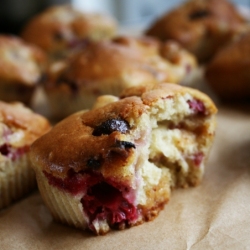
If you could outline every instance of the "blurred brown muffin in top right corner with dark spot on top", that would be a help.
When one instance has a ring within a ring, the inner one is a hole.
[[[190,0],[164,14],[145,33],[180,42],[203,63],[245,29],[246,20],[232,3]]]

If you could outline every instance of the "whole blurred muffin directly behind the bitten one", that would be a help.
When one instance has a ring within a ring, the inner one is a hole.
[[[51,117],[88,109],[98,96],[119,96],[127,87],[181,82],[195,67],[195,58],[175,42],[148,37],[90,42],[70,61],[48,70],[45,92]]]

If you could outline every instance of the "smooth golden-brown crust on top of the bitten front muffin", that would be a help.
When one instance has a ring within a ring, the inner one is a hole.
[[[93,136],[92,132],[94,127],[107,119],[127,120],[128,117],[131,119],[131,117],[140,116],[144,110],[145,107],[140,99],[131,97],[116,102],[115,105],[111,103],[105,108],[91,112],[78,112],[68,117],[32,145],[31,159],[34,167],[42,167],[44,171],[64,178],[71,168],[75,172],[87,169],[87,161],[93,157],[93,152],[100,152],[100,157],[105,159],[101,169],[104,177],[113,176],[115,173],[117,178],[129,178],[131,173],[126,173],[125,168],[120,168],[121,172],[113,169],[119,170],[117,166],[129,165],[128,162],[133,158],[133,149],[117,160],[109,159],[112,147],[117,140],[121,140],[120,133],[98,137]],[[67,131],[65,131],[66,127]],[[79,154],[82,148],[84,148],[83,155]]]

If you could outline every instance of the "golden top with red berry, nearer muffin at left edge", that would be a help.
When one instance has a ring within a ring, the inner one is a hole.
[[[23,104],[0,101],[1,149],[6,145],[14,148],[30,146],[49,129],[50,124],[47,119]]]

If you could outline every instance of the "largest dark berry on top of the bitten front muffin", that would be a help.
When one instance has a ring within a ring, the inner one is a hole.
[[[127,121],[122,119],[109,119],[97,126],[92,135],[109,135],[114,131],[119,131],[122,134],[125,134],[130,129]]]

